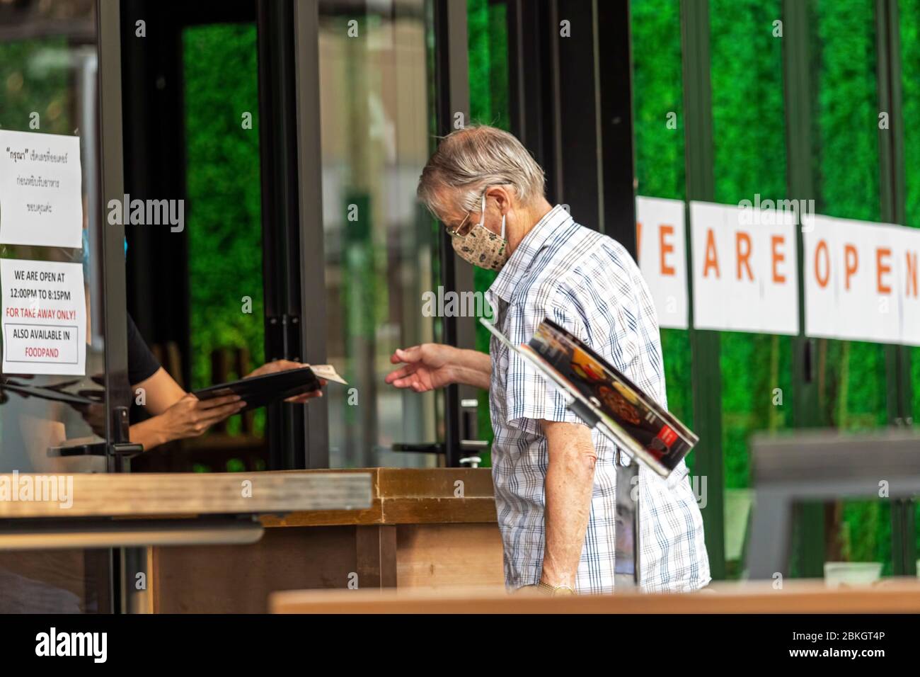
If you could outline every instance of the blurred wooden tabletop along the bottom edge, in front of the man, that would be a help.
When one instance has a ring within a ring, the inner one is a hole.
[[[713,584],[686,594],[622,592],[547,597],[500,588],[441,590],[292,590],[271,596],[272,613],[920,613],[920,582],[832,589],[821,580]]]

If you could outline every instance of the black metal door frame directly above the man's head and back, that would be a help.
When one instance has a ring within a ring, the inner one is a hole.
[[[635,257],[629,4],[507,6],[512,134],[546,171],[547,199]]]

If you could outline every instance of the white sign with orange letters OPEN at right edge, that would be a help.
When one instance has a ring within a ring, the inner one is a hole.
[[[920,230],[815,216],[802,237],[807,335],[920,345]]]

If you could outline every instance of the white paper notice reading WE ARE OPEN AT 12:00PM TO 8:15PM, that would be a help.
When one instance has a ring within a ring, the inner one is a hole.
[[[5,374],[86,374],[83,266],[0,259]]]

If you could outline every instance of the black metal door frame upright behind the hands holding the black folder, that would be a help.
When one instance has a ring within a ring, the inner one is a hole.
[[[316,59],[311,69],[303,52],[309,41],[305,31],[316,36],[317,7],[315,2],[295,6],[292,0],[258,0],[257,7],[265,359],[325,362],[325,326],[304,327],[301,321],[326,315],[321,169],[318,152],[305,164],[300,146],[309,126],[318,127],[318,106],[307,111],[304,99],[318,89]],[[316,51],[315,37],[313,42]],[[305,194],[313,185],[316,194]],[[312,258],[302,251],[306,242]],[[324,400],[308,407],[270,405],[267,434],[270,470],[328,467]]]

